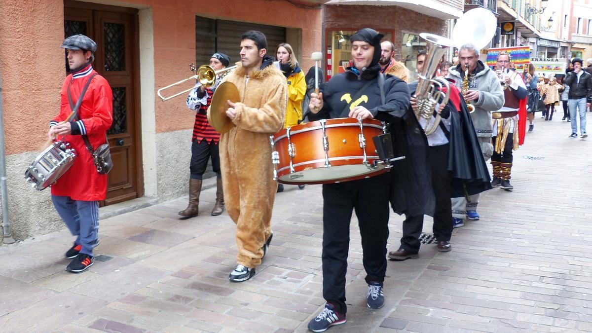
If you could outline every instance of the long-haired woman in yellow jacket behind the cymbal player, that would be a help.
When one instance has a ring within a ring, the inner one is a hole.
[[[304,100],[304,94],[306,94],[306,79],[300,66],[298,66],[298,60],[296,60],[296,55],[294,55],[294,50],[290,44],[279,44],[276,58],[282,73],[288,79],[288,105],[286,107],[284,128],[292,127],[302,120],[302,101]],[[298,188],[302,190],[304,185],[298,185]],[[278,192],[282,191],[284,191],[284,185],[278,184]]]

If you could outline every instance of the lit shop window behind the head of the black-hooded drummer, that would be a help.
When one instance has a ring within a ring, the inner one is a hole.
[[[392,41],[392,31],[378,31],[384,34],[382,41]],[[356,30],[328,30],[326,34],[326,59],[327,79],[331,76],[345,72],[352,60],[352,42],[349,37],[356,33]]]

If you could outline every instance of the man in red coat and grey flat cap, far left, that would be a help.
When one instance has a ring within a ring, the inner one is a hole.
[[[62,47],[67,52],[70,75],[62,85],[60,113],[50,121],[47,135],[70,143],[78,156],[52,186],[52,201],[72,235],[77,236],[66,252],[66,258],[72,259],[66,270],[80,273],[93,263],[92,249],[98,244],[99,200],[105,200],[107,194],[107,175],[96,171],[82,136],[87,136],[95,149],[106,142],[113,120],[113,97],[107,80],[92,69],[95,41],[79,34],[65,39]],[[72,113],[68,92],[75,105],[89,80],[77,116],[65,121]]]

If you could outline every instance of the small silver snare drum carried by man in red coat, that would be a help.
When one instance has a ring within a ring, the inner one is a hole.
[[[40,153],[25,171],[25,179],[37,190],[51,186],[74,163],[76,151],[64,141],[55,142]]]

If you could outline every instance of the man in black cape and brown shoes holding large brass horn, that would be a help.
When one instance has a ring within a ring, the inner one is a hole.
[[[417,72],[422,73],[426,54],[420,53],[417,60]],[[433,73],[426,75],[431,76]],[[409,84],[411,95],[416,93],[418,84],[419,81]],[[435,123],[437,114],[440,114],[442,121],[435,132],[427,135],[429,148],[425,163],[432,179],[430,190],[435,197],[432,212],[426,214],[433,216],[432,230],[436,238],[436,248],[440,252],[451,251],[451,197],[464,197],[465,190],[474,194],[491,188],[485,161],[482,158],[475,159],[475,156],[481,155],[481,148],[466,104],[455,85],[451,84],[450,89],[448,104],[437,104],[430,119],[430,127]],[[417,107],[417,99],[411,97],[411,108],[416,111]],[[425,128],[427,120],[419,117],[419,123]],[[397,251],[388,253],[391,260],[403,261],[419,257],[423,214],[407,212],[405,217],[401,245]]]

